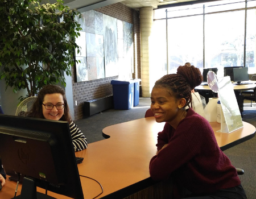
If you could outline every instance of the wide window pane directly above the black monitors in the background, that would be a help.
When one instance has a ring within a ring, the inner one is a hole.
[[[243,66],[245,11],[205,15],[205,68]]]

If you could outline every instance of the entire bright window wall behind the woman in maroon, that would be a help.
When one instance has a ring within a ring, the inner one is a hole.
[[[162,49],[168,65],[166,74],[176,73],[177,67],[186,62],[201,71],[217,67],[218,76],[223,76],[223,67],[229,66],[248,67],[250,74],[256,73],[256,0],[209,1],[170,7],[155,10],[155,16],[158,30],[166,26],[168,32],[167,49]],[[166,42],[163,38],[155,40]],[[154,51],[158,51],[159,56],[159,48]]]

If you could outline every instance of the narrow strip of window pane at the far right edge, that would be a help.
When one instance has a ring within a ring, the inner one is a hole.
[[[248,73],[256,73],[255,69],[255,35],[256,35],[256,10],[247,10],[247,26],[246,26],[246,67]]]

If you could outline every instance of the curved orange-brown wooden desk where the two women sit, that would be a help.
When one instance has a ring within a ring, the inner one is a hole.
[[[210,125],[214,131],[220,130],[217,122],[210,122]],[[151,157],[156,154],[157,135],[163,130],[163,126],[164,123],[156,123],[154,117],[108,126],[102,130],[102,135],[105,138],[110,136],[109,139],[90,143],[88,149],[76,152],[76,156],[84,157],[84,161],[78,165],[80,175],[96,179],[104,188],[104,193],[97,198],[125,198],[142,189],[144,194],[151,189],[152,197],[152,189],[159,188],[159,184],[151,180],[148,166]],[[243,128],[237,131],[230,134],[215,132],[215,135],[218,145],[226,150],[253,138],[255,127],[243,122]],[[85,177],[80,179],[84,198],[91,199],[101,193],[100,185],[95,181]],[[151,185],[154,185],[153,188]],[[16,183],[7,180],[6,186],[0,192],[0,198],[13,197],[15,187]],[[18,194],[20,189],[21,186]],[[38,191],[44,193],[43,189],[38,188]],[[61,199],[68,198],[51,192],[48,194]],[[134,194],[130,198],[144,197],[143,194]]]

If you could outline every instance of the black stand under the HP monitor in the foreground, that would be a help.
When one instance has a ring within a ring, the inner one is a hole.
[[[36,183],[30,177],[24,177],[22,182],[22,190],[19,196],[15,199],[56,199],[46,194],[36,192]]]

